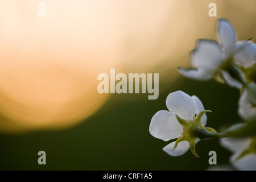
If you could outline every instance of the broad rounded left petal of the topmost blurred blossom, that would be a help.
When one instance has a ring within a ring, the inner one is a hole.
[[[193,49],[190,56],[194,67],[207,72],[216,71],[226,59],[225,53],[222,52],[217,42],[204,39],[197,42],[196,48]]]

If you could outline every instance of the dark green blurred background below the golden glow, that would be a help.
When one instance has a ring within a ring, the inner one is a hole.
[[[217,152],[217,164],[227,164],[230,152],[217,139],[196,144],[196,158],[189,150],[179,157],[168,156],[162,148],[170,142],[152,137],[148,131],[152,116],[167,110],[169,93],[183,90],[195,94],[208,113],[207,126],[220,130],[240,120],[238,90],[214,81],[198,82],[179,77],[170,88],[161,90],[158,100],[127,102],[114,94],[100,111],[86,121],[59,131],[27,134],[0,134],[1,170],[204,170],[209,151]],[[135,94],[126,94],[132,99]],[[38,151],[46,151],[46,165],[38,164]]]

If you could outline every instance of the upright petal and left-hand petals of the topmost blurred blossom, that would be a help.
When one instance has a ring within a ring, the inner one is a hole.
[[[217,22],[218,42],[200,39],[191,52],[191,64],[194,69],[179,68],[182,75],[195,80],[209,80],[236,50],[236,31],[226,19]]]

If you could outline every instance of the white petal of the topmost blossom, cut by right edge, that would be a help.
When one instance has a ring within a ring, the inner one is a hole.
[[[256,44],[253,42],[243,42],[236,45],[234,55],[237,63],[242,67],[249,68],[256,63]]]

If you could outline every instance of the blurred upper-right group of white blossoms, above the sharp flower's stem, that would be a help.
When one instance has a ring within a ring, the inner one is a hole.
[[[218,42],[201,39],[191,52],[192,69],[179,68],[195,80],[217,81],[241,90],[238,114],[242,119],[256,117],[256,44],[237,41],[236,31],[226,19],[217,22]]]

